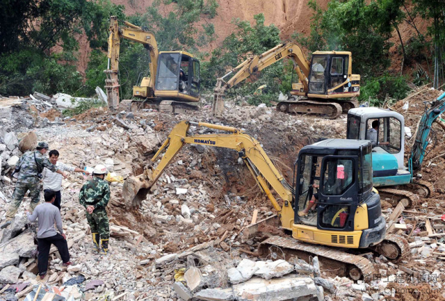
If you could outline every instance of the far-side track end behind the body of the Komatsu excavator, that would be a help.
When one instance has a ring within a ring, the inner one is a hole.
[[[405,238],[394,234],[387,234],[381,243],[369,247],[369,249],[387,257],[387,259],[396,261],[403,259],[410,254],[410,244],[408,241]]]

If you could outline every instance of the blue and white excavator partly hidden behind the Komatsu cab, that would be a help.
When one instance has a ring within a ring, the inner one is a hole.
[[[419,195],[429,197],[434,187],[419,179],[423,159],[436,142],[432,123],[445,111],[445,93],[434,101],[423,101],[425,111],[414,133],[414,143],[405,164],[405,119],[403,115],[382,108],[352,108],[348,111],[348,139],[371,140],[373,186],[382,200],[413,206]],[[432,147],[428,147],[432,145]]]

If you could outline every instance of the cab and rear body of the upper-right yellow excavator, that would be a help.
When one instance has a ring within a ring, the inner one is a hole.
[[[348,51],[315,51],[309,72],[308,96],[358,96],[360,76],[352,74],[351,65],[352,55]]]

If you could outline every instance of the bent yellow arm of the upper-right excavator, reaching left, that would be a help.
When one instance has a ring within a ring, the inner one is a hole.
[[[261,71],[288,56],[295,63],[295,70],[298,74],[298,79],[300,79],[304,90],[307,91],[307,76],[309,76],[310,62],[306,60],[305,55],[297,44],[289,42],[278,44],[277,46],[273,47],[273,49],[269,49],[259,56],[252,56],[251,58],[248,58],[243,63],[236,66],[234,70],[225,74],[225,76],[221,77],[220,79],[217,79],[216,88],[214,89],[213,115],[220,117],[220,115],[223,113],[224,96],[227,89],[232,88],[237,83],[247,79],[250,74]],[[236,74],[232,76],[231,79],[224,81],[225,77],[234,72],[236,72]]]

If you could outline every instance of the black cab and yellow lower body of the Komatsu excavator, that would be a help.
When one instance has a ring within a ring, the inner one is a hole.
[[[300,150],[294,238],[339,247],[369,247],[385,238],[380,197],[372,192],[371,149],[366,140],[327,139]],[[298,215],[307,206],[316,209]]]

